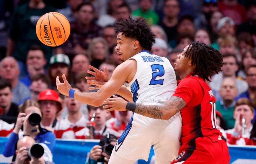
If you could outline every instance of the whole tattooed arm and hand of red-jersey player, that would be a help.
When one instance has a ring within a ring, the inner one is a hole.
[[[109,108],[106,110],[106,112],[112,110],[129,110],[150,118],[168,120],[186,106],[186,102],[182,98],[177,96],[172,96],[171,99],[163,105],[143,105],[137,103],[130,103],[127,106],[127,103],[129,102],[126,102],[122,98],[117,98],[117,96],[114,96],[114,98],[106,99],[103,104],[107,105],[103,107]]]

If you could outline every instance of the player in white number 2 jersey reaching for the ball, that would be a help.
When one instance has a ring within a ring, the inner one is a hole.
[[[154,34],[144,20],[131,18],[117,23],[117,53],[120,64],[109,79],[106,69],[101,72],[93,67],[88,77],[91,83],[107,81],[97,92],[81,93],[71,89],[63,75],[64,83],[56,78],[56,85],[62,94],[86,104],[100,106],[114,93],[131,102],[161,104],[171,98],[177,83],[174,69],[164,58],[148,53],[154,42]],[[95,81],[94,81],[95,80]],[[131,88],[131,92],[125,87]],[[110,106],[111,107],[111,106]],[[157,114],[157,112],[156,112]],[[110,157],[110,164],[133,164],[138,159],[147,161],[151,145],[154,145],[157,164],[169,164],[178,155],[181,135],[179,113],[170,120],[157,120],[134,113],[125,132],[119,138]]]

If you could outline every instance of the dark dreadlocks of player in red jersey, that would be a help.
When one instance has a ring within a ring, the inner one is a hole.
[[[191,75],[198,74],[204,81],[210,81],[209,77],[221,71],[223,65],[222,54],[204,43],[191,43],[185,52],[185,57],[191,58],[191,64],[196,66]]]

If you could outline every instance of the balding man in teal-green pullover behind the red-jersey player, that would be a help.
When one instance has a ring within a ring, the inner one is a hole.
[[[226,127],[228,129],[233,128],[235,124],[233,113],[235,106],[235,98],[237,94],[238,91],[235,80],[231,77],[225,77],[222,80],[221,89],[219,90],[219,95],[221,96],[221,99],[218,101],[216,100],[216,110],[221,112],[221,115],[223,116],[223,119],[226,122]],[[215,95],[216,94],[214,94],[214,96]]]

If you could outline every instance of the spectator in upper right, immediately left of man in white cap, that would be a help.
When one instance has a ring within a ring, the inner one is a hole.
[[[223,18],[223,14],[220,11],[215,11],[211,15],[211,19],[210,19],[210,23],[209,23],[209,25],[210,25],[209,32],[210,32],[210,39],[211,39],[212,43],[216,42],[219,37],[217,26],[218,26],[218,22],[221,18]]]

